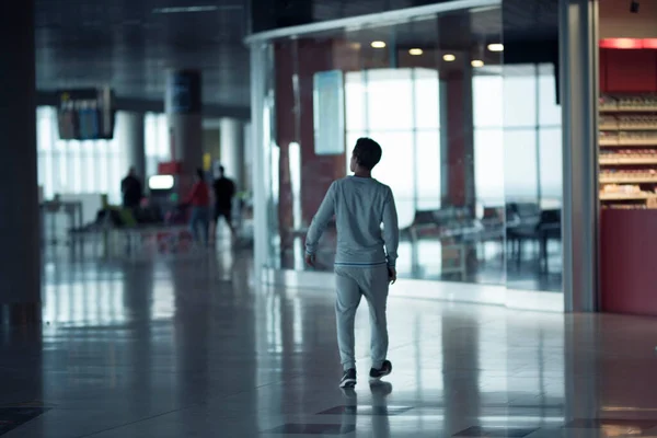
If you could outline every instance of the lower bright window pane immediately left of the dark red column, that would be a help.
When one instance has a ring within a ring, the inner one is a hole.
[[[418,131],[415,140],[417,208],[440,208],[440,132]]]

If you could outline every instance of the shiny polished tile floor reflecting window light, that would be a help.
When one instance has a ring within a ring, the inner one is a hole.
[[[45,267],[43,330],[0,333],[2,438],[657,436],[657,324],[403,297],[394,371],[337,388],[332,291],[246,254]]]

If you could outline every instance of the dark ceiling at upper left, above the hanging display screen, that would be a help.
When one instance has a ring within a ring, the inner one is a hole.
[[[36,0],[37,88],[162,101],[168,68],[197,68],[206,103],[247,107],[246,18],[243,0]]]

